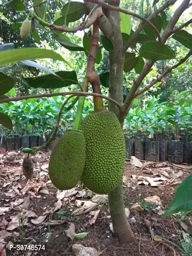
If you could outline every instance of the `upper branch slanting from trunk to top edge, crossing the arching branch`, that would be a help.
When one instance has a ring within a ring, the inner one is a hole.
[[[158,8],[156,10],[156,12],[152,13],[147,20],[151,21],[154,18],[156,18],[156,16],[163,12],[165,9],[167,9],[170,5],[173,5],[177,0],[169,0],[167,3],[165,3],[164,5],[162,5],[160,8]],[[135,30],[135,32],[132,34],[132,37],[127,41],[127,43],[124,45],[122,52],[126,52],[126,50],[132,45],[132,43],[134,42],[134,40],[138,37],[139,33],[144,29],[144,27],[146,26],[146,23],[142,22],[139,27]]]

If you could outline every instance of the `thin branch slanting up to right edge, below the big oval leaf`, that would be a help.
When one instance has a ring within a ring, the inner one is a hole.
[[[165,77],[168,73],[170,73],[173,69],[179,67],[181,64],[183,64],[185,61],[187,61],[187,59],[192,56],[192,50],[188,52],[188,54],[181,59],[177,64],[173,65],[172,67],[169,67],[164,73],[162,73],[159,77],[156,78],[156,80],[154,80],[150,85],[147,85],[146,87],[144,87],[142,90],[138,91],[137,93],[135,93],[134,98],[136,98],[137,96],[141,95],[142,93],[146,92],[147,90],[149,90],[153,85],[155,85],[157,82],[161,82],[162,78]]]

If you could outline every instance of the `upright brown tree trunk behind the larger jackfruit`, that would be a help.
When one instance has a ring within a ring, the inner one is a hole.
[[[112,0],[110,4],[119,5],[119,1]],[[120,14],[119,12],[110,12],[109,20],[113,24],[113,44],[114,50],[109,53],[110,60],[110,83],[109,97],[115,99],[120,104],[123,103],[123,64],[125,56],[121,54],[122,37],[120,32]],[[118,116],[118,108],[111,102],[108,103],[108,109]],[[121,125],[123,123],[121,122]],[[133,240],[131,226],[125,215],[123,199],[123,183],[108,194],[109,210],[113,223],[113,229],[116,237],[121,244],[126,244]]]

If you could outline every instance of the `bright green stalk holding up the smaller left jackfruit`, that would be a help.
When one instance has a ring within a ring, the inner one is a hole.
[[[88,91],[88,84],[89,84],[88,79],[85,78],[83,86],[82,86],[83,90],[85,92]],[[84,110],[84,100],[85,100],[85,96],[80,96],[79,97],[77,112],[76,112],[76,116],[75,116],[74,123],[73,123],[73,126],[72,126],[73,130],[79,130],[81,120],[82,120],[82,114],[83,114],[83,110]]]

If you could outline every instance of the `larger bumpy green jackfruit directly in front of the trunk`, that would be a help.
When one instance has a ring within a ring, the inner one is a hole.
[[[120,182],[124,172],[125,138],[116,115],[94,111],[82,122],[86,158],[81,181],[97,194],[107,194]]]

